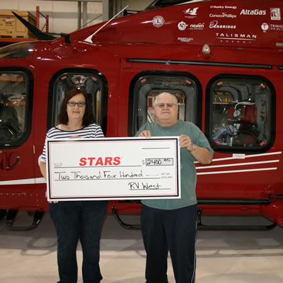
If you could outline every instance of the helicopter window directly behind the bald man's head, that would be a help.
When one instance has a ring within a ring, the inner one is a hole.
[[[172,93],[178,100],[178,119],[197,123],[197,83],[187,75],[164,76],[146,75],[141,76],[134,83],[134,97],[129,98],[129,115],[132,115],[134,124],[132,133],[146,122],[155,122],[154,100],[158,94],[163,92]],[[129,119],[129,121],[132,121]],[[130,127],[129,127],[130,128]]]

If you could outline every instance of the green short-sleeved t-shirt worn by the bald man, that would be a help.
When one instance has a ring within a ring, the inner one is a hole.
[[[178,120],[172,127],[162,127],[158,122],[147,123],[139,129],[136,136],[144,130],[151,132],[151,137],[178,137],[181,134],[186,134],[192,139],[193,144],[208,149],[213,156],[214,151],[210,147],[207,138],[202,131],[191,122]],[[197,204],[195,194],[195,187],[197,185],[197,174],[194,163],[195,157],[185,148],[180,149],[180,156],[181,198],[178,200],[142,200],[141,202],[143,204],[157,209],[178,209]]]

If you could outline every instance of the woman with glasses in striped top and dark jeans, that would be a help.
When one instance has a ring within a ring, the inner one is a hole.
[[[104,137],[100,126],[92,122],[88,98],[80,89],[67,92],[59,112],[59,122],[60,125],[47,132],[46,138]],[[45,162],[44,147],[40,156],[40,171],[46,178]],[[83,282],[100,282],[100,231],[108,201],[50,202],[49,205],[58,238],[58,283],[77,282],[76,246],[79,240],[83,250]]]

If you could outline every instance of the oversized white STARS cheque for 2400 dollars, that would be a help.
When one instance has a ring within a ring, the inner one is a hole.
[[[47,139],[48,200],[180,198],[178,137]]]

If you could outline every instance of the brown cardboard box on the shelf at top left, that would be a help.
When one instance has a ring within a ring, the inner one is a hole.
[[[15,10],[0,10],[0,37],[2,38],[35,38],[35,36],[30,33],[28,28],[21,23],[21,21],[13,15],[13,12],[17,13],[31,23],[36,25],[36,18],[32,13],[28,11],[15,11]]]

